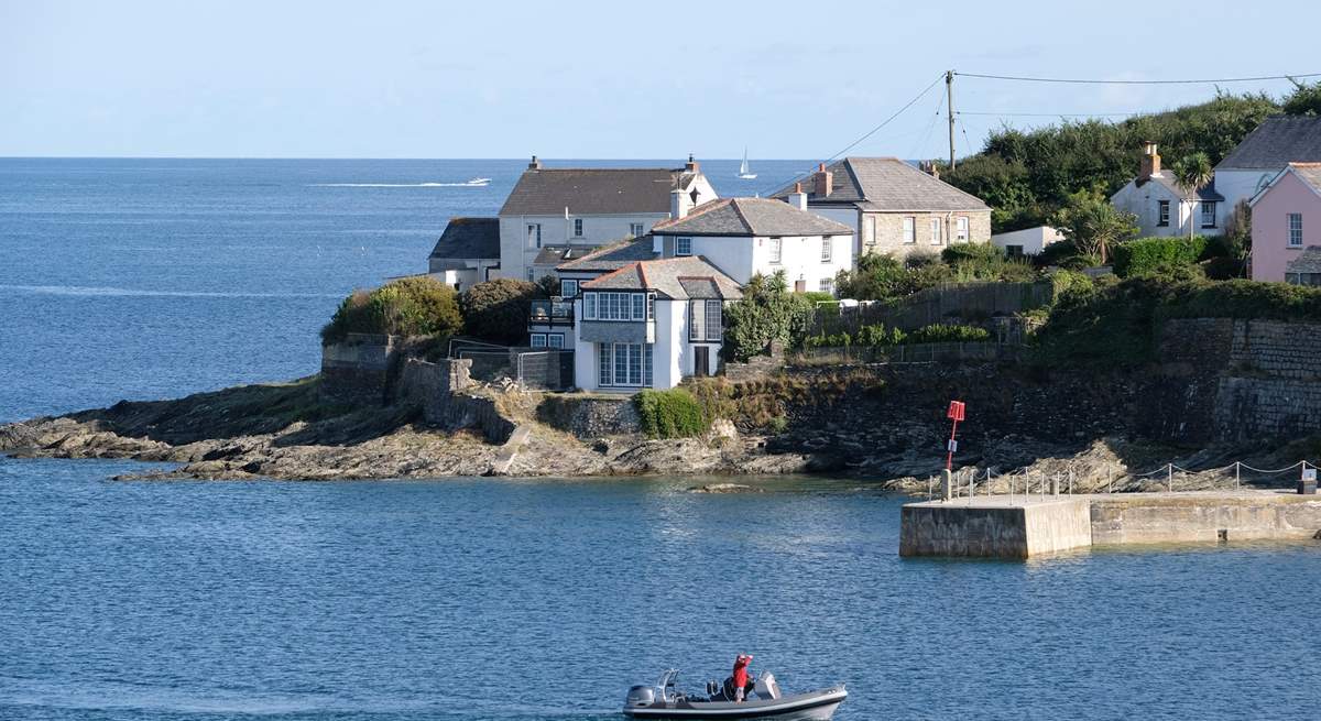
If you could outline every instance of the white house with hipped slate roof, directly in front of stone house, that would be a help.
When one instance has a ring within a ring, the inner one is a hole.
[[[770,198],[725,198],[653,226],[658,258],[703,256],[738,284],[785,275],[797,292],[835,292],[835,276],[853,267],[853,228]]]

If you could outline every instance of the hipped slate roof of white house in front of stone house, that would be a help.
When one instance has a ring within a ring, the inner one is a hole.
[[[723,198],[651,226],[657,235],[852,235],[853,228],[770,198]]]

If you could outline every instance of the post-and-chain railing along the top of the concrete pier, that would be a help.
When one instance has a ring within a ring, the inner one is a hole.
[[[1297,471],[1301,478],[1306,475],[1308,470],[1316,473],[1317,469],[1321,469],[1321,464],[1308,460],[1299,461],[1281,469],[1259,469],[1242,461],[1234,461],[1226,466],[1190,470],[1173,462],[1168,462],[1145,473],[1118,471],[1114,465],[1107,465],[1104,471],[1104,485],[1102,486],[1099,485],[1099,478],[1096,478],[1095,473],[1081,475],[1075,467],[1049,473],[1022,469],[1007,474],[996,474],[995,469],[989,467],[968,467],[952,473],[951,491],[955,499],[967,499],[971,502],[979,495],[1008,495],[1012,503],[1016,497],[1022,497],[1024,499],[1038,497],[1048,498],[1074,495],[1075,491],[1086,494],[1112,494],[1128,493],[1133,490],[1165,493],[1205,491],[1217,487],[1214,483],[1209,485],[1210,479],[1223,478],[1227,481],[1231,477],[1234,478],[1234,490],[1240,490],[1244,478],[1263,479],[1280,477],[1281,474],[1289,471]],[[1095,471],[1095,469],[1091,470]],[[1210,477],[1210,479],[1207,477]],[[1190,478],[1196,479],[1196,482],[1189,482]],[[933,475],[927,478],[929,500],[937,498],[941,486],[942,481],[938,477]],[[1119,489],[1118,491],[1116,487]]]

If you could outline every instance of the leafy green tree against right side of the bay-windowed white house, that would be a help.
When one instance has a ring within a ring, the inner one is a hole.
[[[789,343],[807,327],[811,313],[810,300],[789,292],[785,271],[753,276],[744,297],[725,306],[725,358],[746,360],[764,354],[774,341]]]

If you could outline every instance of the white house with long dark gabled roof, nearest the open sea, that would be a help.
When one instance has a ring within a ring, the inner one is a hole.
[[[501,277],[536,280],[546,247],[641,238],[672,214],[715,199],[699,164],[683,168],[543,168],[534,156],[499,210]]]

